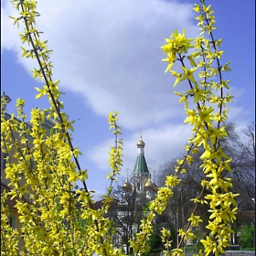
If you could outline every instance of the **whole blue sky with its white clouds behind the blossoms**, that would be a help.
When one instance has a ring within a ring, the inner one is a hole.
[[[193,3],[161,0],[37,1],[37,29],[48,39],[54,80],[60,79],[61,98],[70,120],[75,120],[73,144],[80,147],[81,167],[89,171],[88,187],[98,194],[106,180],[109,146],[114,137],[108,113],[119,111],[123,128],[123,169],[120,182],[130,174],[136,160],[136,143],[143,128],[145,158],[151,171],[179,156],[190,136],[184,125],[184,107],[173,93],[174,79],[165,73],[160,49],[174,29],[197,37]],[[235,96],[229,121],[238,130],[255,116],[255,2],[206,0],[216,11],[215,37],[223,38],[221,63],[231,61],[231,95]],[[7,112],[16,112],[16,98],[27,101],[27,119],[33,107],[48,107],[46,99],[35,100],[31,59],[21,58],[19,30],[8,16],[16,10],[1,0],[1,92],[12,101]],[[22,26],[21,26],[22,27]],[[180,85],[181,90],[187,83]],[[176,89],[177,91],[177,89]]]

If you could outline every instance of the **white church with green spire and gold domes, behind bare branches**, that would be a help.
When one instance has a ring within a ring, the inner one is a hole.
[[[145,143],[142,136],[137,143],[137,158],[131,178],[112,193],[112,207],[109,209],[108,217],[112,219],[115,227],[115,235],[112,236],[116,248],[122,248],[126,254],[132,253],[130,239],[140,229],[141,220],[144,219],[144,211],[148,203],[155,198],[158,187],[155,180],[151,181],[144,156]],[[127,168],[128,170],[128,168]]]

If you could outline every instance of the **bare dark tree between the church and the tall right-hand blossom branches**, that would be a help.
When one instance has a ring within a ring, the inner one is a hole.
[[[199,195],[202,190],[201,180],[204,178],[204,174],[199,171],[199,166],[202,165],[202,160],[200,155],[202,154],[202,149],[199,148],[197,153],[193,155],[193,162],[188,165],[185,163],[183,165],[184,169],[187,170],[186,173],[179,174],[178,178],[182,181],[175,187],[174,196],[170,198],[167,206],[168,214],[172,219],[172,227],[176,230],[176,238],[178,238],[178,229],[184,229],[187,224],[187,219],[190,216],[190,210],[194,208],[194,203],[191,201],[195,195]],[[184,155],[180,155],[182,158]],[[175,175],[176,169],[176,158],[166,162],[157,171],[157,183],[161,186],[165,184],[165,176]],[[205,190],[205,194],[208,190]],[[204,234],[208,233],[208,229],[205,227],[208,223],[208,206],[205,204],[199,204],[197,207],[197,214],[201,217],[202,223],[197,229],[197,232],[202,232]],[[198,236],[197,236],[198,237]],[[174,244],[178,243],[178,239],[174,240]],[[199,243],[199,240],[197,240]]]

